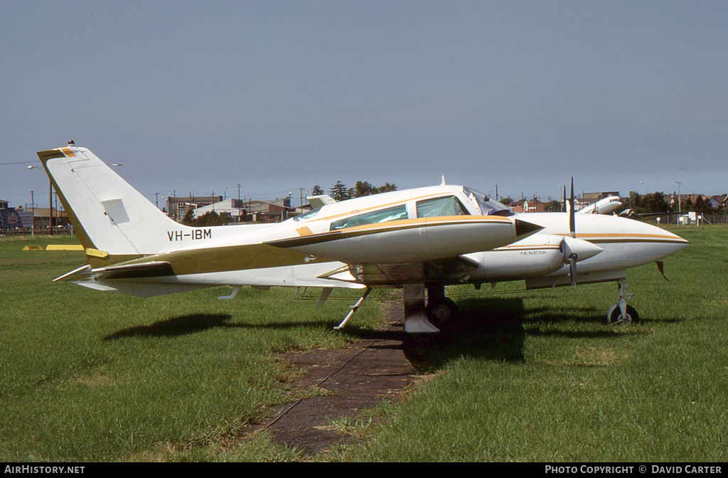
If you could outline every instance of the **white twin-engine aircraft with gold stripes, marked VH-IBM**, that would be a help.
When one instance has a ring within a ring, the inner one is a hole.
[[[337,329],[373,288],[403,289],[405,331],[436,333],[456,313],[445,286],[521,280],[528,289],[617,281],[619,302],[608,320],[636,321],[625,302],[625,270],[661,266],[689,244],[618,216],[513,214],[444,181],[327,200],[280,223],[187,227],[88,149],[69,141],[38,156],[86,251],[86,265],[56,281],[140,297],[233,286],[220,299],[232,299],[241,286],[320,287],[320,304],[334,288],[364,289]]]

